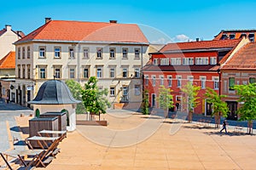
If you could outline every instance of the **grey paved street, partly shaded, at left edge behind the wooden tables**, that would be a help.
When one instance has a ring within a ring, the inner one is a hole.
[[[6,104],[3,99],[0,99],[0,151],[9,150],[12,147],[13,138],[21,139],[20,129],[15,122],[15,116],[20,114],[28,116],[32,110],[15,105],[14,103]],[[15,145],[15,149],[23,147]]]

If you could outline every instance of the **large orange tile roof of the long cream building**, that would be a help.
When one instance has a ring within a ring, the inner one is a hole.
[[[148,42],[135,24],[50,20],[18,42],[31,40]]]

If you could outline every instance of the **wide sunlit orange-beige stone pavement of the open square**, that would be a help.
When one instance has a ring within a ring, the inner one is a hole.
[[[134,112],[115,111],[103,115],[102,119],[108,120],[108,127],[78,126],[73,133],[67,133],[67,139],[59,145],[61,153],[46,169],[226,170],[256,167],[256,136],[234,133],[230,127],[229,134],[221,134],[213,124],[163,120]],[[159,122],[160,126],[155,126]],[[150,124],[154,128],[150,128]],[[153,133],[144,135],[141,127]],[[127,136],[122,136],[125,133]]]

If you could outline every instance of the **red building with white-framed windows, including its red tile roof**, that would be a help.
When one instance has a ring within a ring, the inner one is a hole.
[[[190,81],[201,87],[199,105],[194,112],[211,115],[212,105],[204,99],[206,88],[220,93],[219,67],[242,43],[243,39],[178,42],[166,44],[159,52],[152,53],[148,65],[143,68],[143,88],[148,90],[150,106],[159,108],[156,98],[160,86],[164,85],[172,89],[174,105],[178,104],[175,110],[185,111],[185,95],[181,88]]]

